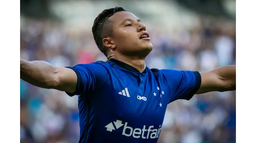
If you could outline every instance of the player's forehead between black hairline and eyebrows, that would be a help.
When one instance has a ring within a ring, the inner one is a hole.
[[[109,19],[115,21],[116,24],[120,24],[125,19],[132,19],[136,21],[138,18],[130,12],[119,11],[113,14]]]

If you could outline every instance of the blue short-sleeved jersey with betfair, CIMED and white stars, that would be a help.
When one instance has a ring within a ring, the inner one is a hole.
[[[79,143],[156,143],[167,104],[190,100],[199,72],[136,68],[110,59],[68,67],[77,74]]]

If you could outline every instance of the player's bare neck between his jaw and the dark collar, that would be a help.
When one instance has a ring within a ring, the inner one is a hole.
[[[133,66],[136,69],[138,69],[139,72],[141,72],[141,73],[146,68],[145,58],[144,59],[138,59],[138,58],[135,58],[135,57],[126,57],[126,56],[118,56],[118,55],[111,56],[111,57],[109,57],[109,59],[110,58],[114,58],[118,61],[124,62],[124,63],[126,63],[130,66]]]

